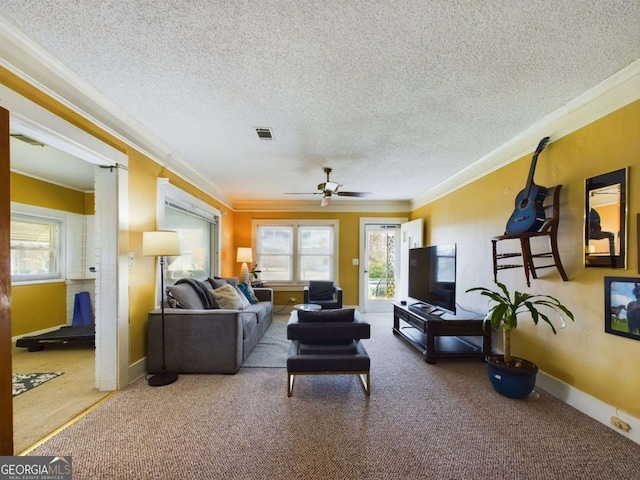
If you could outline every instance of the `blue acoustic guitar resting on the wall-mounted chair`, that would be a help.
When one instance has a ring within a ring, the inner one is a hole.
[[[542,202],[547,194],[547,189],[533,183],[533,174],[536,171],[538,155],[549,143],[549,137],[544,137],[538,143],[538,148],[533,154],[527,186],[516,197],[516,208],[507,222],[506,233],[514,235],[525,232],[537,232],[544,223],[544,208]]]

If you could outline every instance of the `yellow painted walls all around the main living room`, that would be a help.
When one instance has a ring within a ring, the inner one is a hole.
[[[84,129],[130,157],[130,250],[136,254],[136,265],[130,269],[131,362],[146,352],[146,316],[153,308],[154,262],[141,255],[141,232],[155,228],[156,178],[167,176],[176,185],[200,196],[212,205],[226,210],[190,185],[183,185],[161,167],[69,108],[39,92],[0,67],[2,83],[44,106],[54,114]],[[541,185],[562,183],[562,220],[560,252],[570,281],[562,282],[553,270],[542,272],[527,289],[522,271],[501,272],[500,280],[511,288],[547,293],[560,297],[576,314],[576,321],[553,336],[546,326],[534,328],[522,324],[514,342],[514,353],[530,358],[545,372],[594,397],[640,417],[640,376],[635,367],[640,343],[604,333],[603,277],[637,276],[638,257],[636,213],[640,171],[635,168],[640,158],[637,129],[640,125],[640,102],[622,108],[571,135],[552,143],[538,162],[536,182]],[[533,147],[533,146],[532,146]],[[530,157],[496,171],[460,190],[412,212],[412,218],[424,218],[426,244],[457,242],[458,302],[475,311],[486,304],[479,296],[464,294],[472,286],[492,285],[490,238],[504,231],[513,209],[513,201],[523,188]],[[585,269],[583,267],[584,180],[618,168],[633,165],[629,179],[629,249],[628,270]],[[237,275],[235,248],[245,246],[251,218],[300,218],[298,213],[226,212],[223,216],[223,275]],[[402,214],[398,214],[402,215]],[[326,218],[326,214],[305,214],[303,218]],[[340,283],[345,288],[345,303],[357,304],[358,273],[350,259],[359,257],[358,231],[360,216],[380,214],[331,214],[340,222]],[[385,214],[383,216],[395,216]],[[234,234],[234,230],[237,231]],[[283,292],[285,297],[289,295]],[[17,297],[16,297],[17,298]],[[281,300],[277,303],[286,303]],[[499,345],[498,345],[499,346]]]

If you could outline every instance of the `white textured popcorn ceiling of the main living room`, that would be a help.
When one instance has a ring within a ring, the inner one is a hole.
[[[414,199],[640,58],[637,0],[0,0],[0,15],[232,204],[314,192],[325,166],[344,190]]]

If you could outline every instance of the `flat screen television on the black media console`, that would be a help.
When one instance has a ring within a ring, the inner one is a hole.
[[[409,250],[409,296],[412,309],[456,313],[456,244]]]

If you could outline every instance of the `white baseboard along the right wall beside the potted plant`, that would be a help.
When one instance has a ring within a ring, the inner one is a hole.
[[[581,411],[585,415],[590,416],[594,420],[609,427],[616,433],[619,433],[625,438],[628,438],[632,442],[640,444],[640,419],[632,416],[631,414],[619,410],[613,405],[609,405],[601,400],[598,400],[591,395],[578,390],[577,388],[559,380],[551,375],[548,375],[542,371],[538,372],[536,378],[536,386],[542,390],[550,393],[559,400],[562,400],[568,405],[571,405],[576,410]],[[619,428],[615,428],[611,425],[611,417],[616,416],[621,420],[624,420],[631,426],[631,430],[625,432]]]

